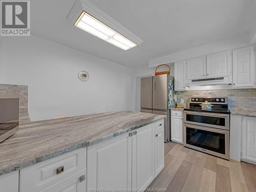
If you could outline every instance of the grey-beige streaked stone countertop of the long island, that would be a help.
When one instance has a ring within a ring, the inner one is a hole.
[[[111,139],[165,117],[124,111],[28,122],[0,143],[0,175]]]

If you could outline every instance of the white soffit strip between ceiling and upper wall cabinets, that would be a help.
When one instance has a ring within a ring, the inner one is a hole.
[[[158,66],[159,63],[170,63],[180,61],[184,59],[189,59],[193,57],[198,57],[206,54],[211,54],[228,49],[234,49],[247,45],[249,45],[249,33],[212,42],[207,45],[195,47],[178,53],[172,53],[170,55],[166,55],[163,57],[155,58],[148,61],[148,66],[152,68]]]

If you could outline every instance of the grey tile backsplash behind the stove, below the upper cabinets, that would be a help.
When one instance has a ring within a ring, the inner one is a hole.
[[[184,99],[187,106],[189,97],[228,97],[229,109],[243,109],[256,111],[256,89],[239,90],[209,90],[209,91],[184,91],[177,92],[178,102]]]

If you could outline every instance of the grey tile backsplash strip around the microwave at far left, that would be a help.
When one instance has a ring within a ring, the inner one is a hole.
[[[0,83],[0,94],[5,93],[13,93],[19,96],[19,120],[20,122],[30,121],[28,114],[28,86]]]

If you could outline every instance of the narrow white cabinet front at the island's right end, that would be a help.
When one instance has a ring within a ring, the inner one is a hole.
[[[156,124],[158,125],[158,124]],[[164,128],[155,126],[155,176],[164,167]]]

